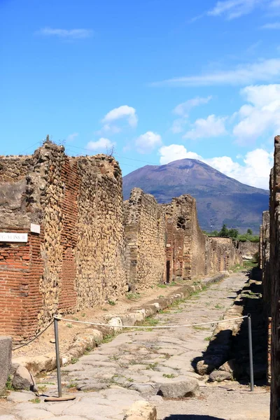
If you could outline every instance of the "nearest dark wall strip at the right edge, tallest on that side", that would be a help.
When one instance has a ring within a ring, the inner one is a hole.
[[[274,167],[270,177],[269,238],[272,314],[270,419],[280,419],[280,136],[274,139]],[[267,285],[266,279],[264,286]],[[269,294],[269,290],[267,294]]]

